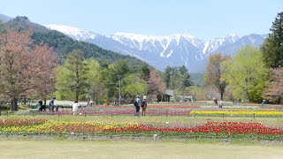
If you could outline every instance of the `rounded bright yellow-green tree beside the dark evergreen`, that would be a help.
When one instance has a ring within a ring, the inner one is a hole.
[[[221,79],[228,82],[234,97],[248,99],[249,102],[261,101],[264,83],[268,79],[261,51],[245,46],[235,57],[224,62],[223,66],[226,72]]]

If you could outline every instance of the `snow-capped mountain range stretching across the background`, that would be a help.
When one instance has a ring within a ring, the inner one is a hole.
[[[246,36],[227,34],[225,37],[203,41],[190,34],[101,35],[75,27],[57,25],[45,25],[45,27],[67,34],[78,41],[91,42],[103,49],[138,57],[159,70],[164,70],[167,65],[185,65],[189,72],[204,72],[211,54],[222,53],[233,56],[246,44],[259,47],[266,38],[266,35],[260,34]]]

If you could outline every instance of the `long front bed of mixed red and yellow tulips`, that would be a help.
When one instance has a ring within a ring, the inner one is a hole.
[[[19,120],[13,125],[0,125],[0,133],[87,133],[89,135],[159,135],[159,136],[194,136],[220,138],[272,138],[283,140],[283,130],[260,123],[207,122],[197,126],[158,126],[138,123],[103,123],[103,122],[29,122]],[[36,120],[36,119],[35,119]],[[21,124],[22,122],[22,124]]]

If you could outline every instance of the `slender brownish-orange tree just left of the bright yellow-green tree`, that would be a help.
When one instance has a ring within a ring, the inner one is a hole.
[[[223,95],[227,86],[227,82],[225,80],[221,80],[224,69],[224,67],[221,66],[221,63],[229,58],[229,56],[222,56],[221,54],[210,56],[209,64],[207,64],[206,71],[204,73],[205,84],[217,87],[221,100],[223,100]]]

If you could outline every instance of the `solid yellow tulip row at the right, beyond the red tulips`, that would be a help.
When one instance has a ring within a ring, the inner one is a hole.
[[[258,111],[235,111],[235,110],[227,110],[227,111],[197,111],[193,110],[190,112],[192,115],[203,115],[203,116],[220,116],[220,115],[229,115],[229,116],[245,116],[245,115],[255,115],[255,116],[283,116],[283,111],[276,110],[258,110]]]

